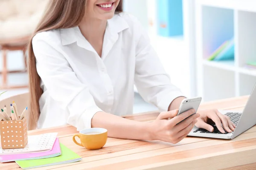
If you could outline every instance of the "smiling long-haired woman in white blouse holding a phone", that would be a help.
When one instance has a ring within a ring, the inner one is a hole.
[[[183,94],[140,23],[122,12],[122,0],[49,1],[29,43],[29,80],[30,129],[103,127],[111,137],[177,143],[194,125],[212,131],[208,119],[223,133],[235,127],[217,110],[198,111],[176,125],[194,111],[176,116]],[[163,111],[154,122],[121,117],[132,114],[134,83]]]

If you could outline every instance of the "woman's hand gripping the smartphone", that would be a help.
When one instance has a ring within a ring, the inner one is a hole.
[[[161,112],[157,119],[151,122],[153,140],[170,142],[172,144],[180,142],[189,134],[197,122],[196,119],[200,116],[198,113],[195,113],[194,109],[176,116],[177,113],[178,110]],[[192,115],[193,113],[195,114]],[[188,119],[180,122],[188,116],[190,116]],[[177,125],[177,123],[179,124]]]

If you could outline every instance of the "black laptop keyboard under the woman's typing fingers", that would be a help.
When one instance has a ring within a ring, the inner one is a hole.
[[[226,116],[230,117],[231,122],[233,122],[235,125],[237,125],[242,113],[233,113],[233,112],[229,112],[225,114]],[[222,126],[222,124],[221,124]],[[194,131],[194,133],[200,132],[200,133],[221,133],[216,125],[212,125],[212,127],[214,128],[213,132],[210,132],[208,130],[205,129],[197,129]],[[223,126],[222,126],[223,127]],[[225,130],[225,129],[224,129]],[[221,134],[227,134],[228,132],[225,130],[225,133],[221,133]]]

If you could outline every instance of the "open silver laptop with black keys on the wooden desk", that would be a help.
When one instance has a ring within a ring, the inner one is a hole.
[[[250,94],[250,97],[244,107],[244,110],[241,112],[236,111],[219,111],[222,114],[225,114],[230,117],[230,120],[236,125],[235,130],[232,133],[221,133],[216,125],[213,132],[208,130],[201,129],[198,127],[193,127],[188,136],[198,136],[198,137],[207,137],[207,138],[218,138],[218,139],[233,139],[236,136],[239,136],[244,131],[250,129],[256,125],[256,85],[253,87],[253,91]]]

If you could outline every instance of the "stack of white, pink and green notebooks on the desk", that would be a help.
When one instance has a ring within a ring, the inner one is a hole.
[[[1,162],[16,161],[24,170],[80,160],[79,155],[59,143],[57,133],[28,136],[25,148],[0,149]]]

